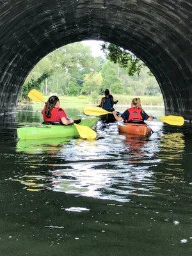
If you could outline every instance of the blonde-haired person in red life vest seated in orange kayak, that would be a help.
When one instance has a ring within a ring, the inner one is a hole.
[[[134,98],[131,102],[131,108],[125,110],[122,115],[116,115],[116,111],[113,111],[113,115],[118,122],[124,120],[126,123],[145,124],[144,120],[152,121],[154,116],[148,116],[147,113],[141,108],[140,98]]]

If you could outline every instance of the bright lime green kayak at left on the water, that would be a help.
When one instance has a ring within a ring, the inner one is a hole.
[[[90,128],[96,124],[98,118],[81,119],[79,125]],[[45,125],[21,127],[17,129],[20,140],[40,140],[49,138],[79,137],[79,132],[74,125]]]

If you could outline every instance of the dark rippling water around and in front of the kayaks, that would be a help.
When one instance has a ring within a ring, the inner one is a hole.
[[[0,255],[191,255],[192,134],[150,124],[140,138],[99,122],[95,141],[22,142],[19,125],[1,127]]]

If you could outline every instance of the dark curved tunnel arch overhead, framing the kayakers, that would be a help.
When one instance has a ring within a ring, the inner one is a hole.
[[[129,49],[159,83],[166,115],[192,119],[191,0],[1,0],[0,113],[15,111],[30,70],[81,40]]]

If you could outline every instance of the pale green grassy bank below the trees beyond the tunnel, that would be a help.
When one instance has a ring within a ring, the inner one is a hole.
[[[45,99],[49,98],[49,95],[44,96]],[[80,95],[79,97],[70,97],[70,96],[59,96],[60,103],[63,108],[81,108],[84,105],[98,105],[100,103],[100,99],[103,95],[97,96],[84,96]],[[127,105],[130,106],[131,100],[135,97],[140,97],[142,106],[164,106],[163,96],[138,96],[138,95],[113,95],[114,100],[118,100],[119,105]],[[24,105],[26,103],[19,102],[19,106]],[[33,103],[31,104],[34,110],[42,109],[44,103]]]

